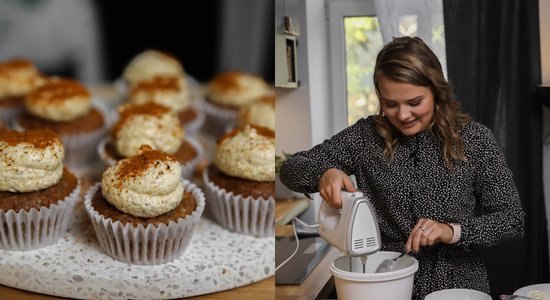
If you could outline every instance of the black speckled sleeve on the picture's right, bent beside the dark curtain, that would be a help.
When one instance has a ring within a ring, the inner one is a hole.
[[[465,142],[471,144],[477,160],[474,193],[482,213],[463,222],[458,244],[489,247],[522,237],[524,212],[499,144],[490,129],[477,124],[471,140]]]

